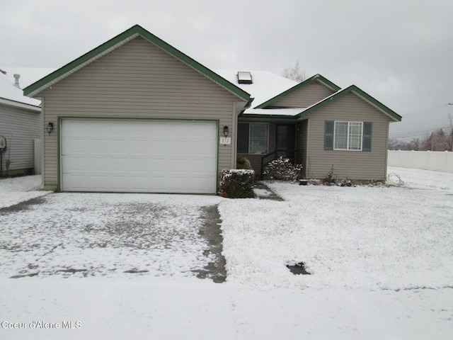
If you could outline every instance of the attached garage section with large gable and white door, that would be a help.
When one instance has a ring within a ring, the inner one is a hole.
[[[138,25],[24,94],[42,102],[46,190],[125,193],[216,194],[252,100]]]

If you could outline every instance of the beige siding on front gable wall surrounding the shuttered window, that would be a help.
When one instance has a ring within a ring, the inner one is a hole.
[[[372,151],[324,150],[326,120],[372,122]],[[333,166],[338,179],[386,178],[386,152],[389,118],[355,94],[347,94],[309,114],[307,176],[326,178]]]

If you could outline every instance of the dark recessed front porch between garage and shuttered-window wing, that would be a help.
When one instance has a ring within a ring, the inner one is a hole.
[[[306,145],[309,120],[239,118],[237,157],[251,163],[258,179],[263,168],[279,157],[302,164],[306,176]]]

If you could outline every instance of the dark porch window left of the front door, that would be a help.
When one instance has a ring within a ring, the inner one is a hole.
[[[267,154],[268,123],[239,123],[238,152],[240,154]]]

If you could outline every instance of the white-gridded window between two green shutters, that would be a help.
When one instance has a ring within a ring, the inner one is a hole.
[[[361,151],[362,130],[362,122],[335,122],[333,149]]]

